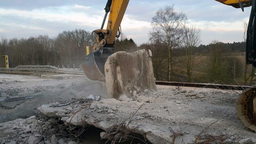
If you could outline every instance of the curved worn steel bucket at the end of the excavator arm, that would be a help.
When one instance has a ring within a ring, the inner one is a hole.
[[[98,50],[88,54],[83,63],[85,75],[90,80],[105,82],[104,65],[114,51],[114,47],[100,47]]]

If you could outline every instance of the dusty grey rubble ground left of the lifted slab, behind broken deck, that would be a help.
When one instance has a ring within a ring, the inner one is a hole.
[[[0,73],[0,123],[17,118],[27,118],[35,113],[34,107],[52,100],[90,94],[107,98],[105,83],[90,81],[86,77],[59,80],[33,75]],[[35,95],[39,96],[5,102],[6,98]]]

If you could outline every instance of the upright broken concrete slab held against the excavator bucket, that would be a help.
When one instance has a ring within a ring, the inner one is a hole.
[[[140,88],[139,92],[157,90],[152,60],[146,50],[120,51],[109,56],[105,63],[105,81],[108,98],[119,101],[129,97],[134,88]]]

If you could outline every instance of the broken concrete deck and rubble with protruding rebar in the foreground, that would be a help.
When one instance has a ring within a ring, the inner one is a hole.
[[[0,143],[256,143],[237,118],[236,92],[133,93],[124,102],[84,94],[42,105],[36,118],[1,123]]]

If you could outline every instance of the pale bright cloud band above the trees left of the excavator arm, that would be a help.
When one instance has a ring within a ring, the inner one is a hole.
[[[5,36],[6,38],[13,37],[29,37],[48,34],[50,37],[57,36],[57,34],[63,30],[74,30],[74,29],[85,29],[92,31],[97,27],[86,27],[76,23],[66,21],[46,21],[43,19],[29,19],[20,17],[1,16],[0,27],[3,27],[5,32],[0,32],[0,37]],[[12,24],[18,24],[20,26],[13,26]],[[31,29],[31,26],[43,29]]]

